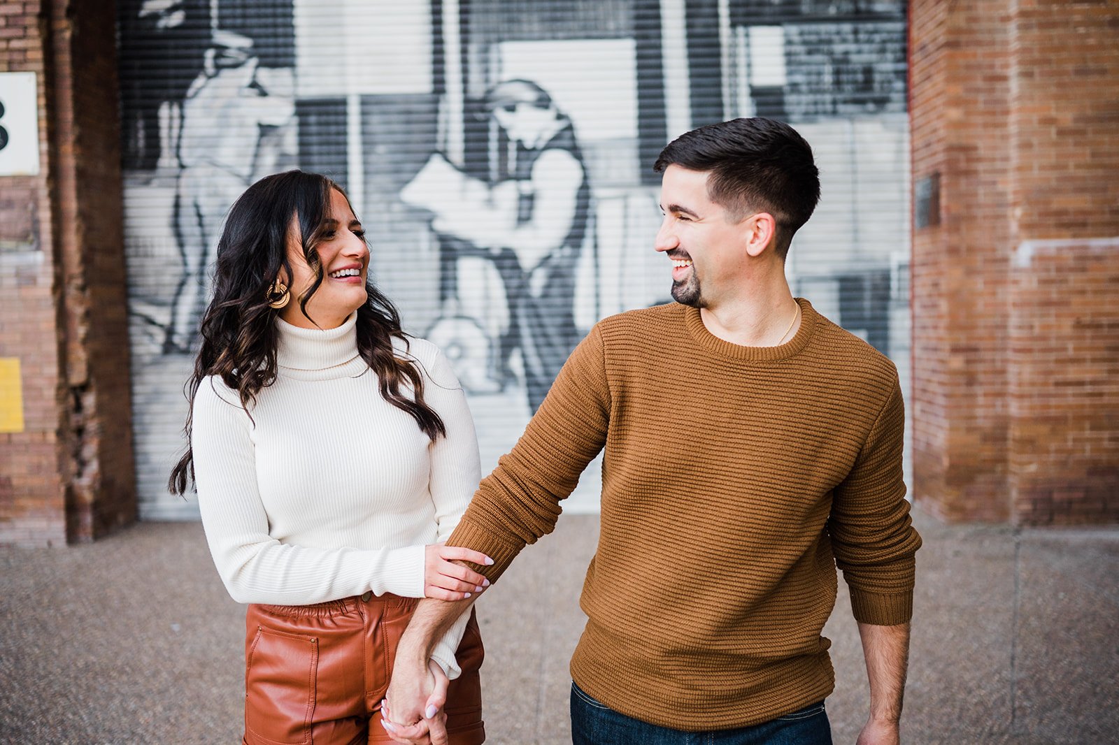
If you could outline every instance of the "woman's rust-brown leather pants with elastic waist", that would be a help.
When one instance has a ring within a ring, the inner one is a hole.
[[[250,605],[245,615],[245,745],[388,743],[380,700],[419,601],[366,593],[317,605]],[[473,611],[446,696],[452,745],[486,739]]]

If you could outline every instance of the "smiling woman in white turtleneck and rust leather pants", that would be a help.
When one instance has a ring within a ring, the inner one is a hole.
[[[250,603],[250,745],[387,742],[380,700],[415,598],[489,584],[451,563],[486,556],[438,543],[480,475],[466,398],[369,283],[364,236],[336,183],[289,171],[251,186],[218,242],[170,488],[195,480],[218,573]],[[463,614],[432,658],[452,679],[452,743],[485,739],[481,660]]]

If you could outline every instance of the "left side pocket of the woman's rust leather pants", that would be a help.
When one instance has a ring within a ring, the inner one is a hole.
[[[256,626],[245,656],[245,729],[283,745],[311,742],[319,640]]]

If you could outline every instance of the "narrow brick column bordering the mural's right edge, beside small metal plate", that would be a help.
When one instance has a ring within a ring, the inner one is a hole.
[[[913,230],[913,491],[953,521],[1008,517],[1005,4],[910,9],[913,178],[940,185],[939,213]]]

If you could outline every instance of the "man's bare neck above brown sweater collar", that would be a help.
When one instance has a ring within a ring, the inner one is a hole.
[[[800,307],[784,274],[751,284],[734,298],[700,309],[704,327],[723,341],[742,347],[788,342],[800,327]]]

